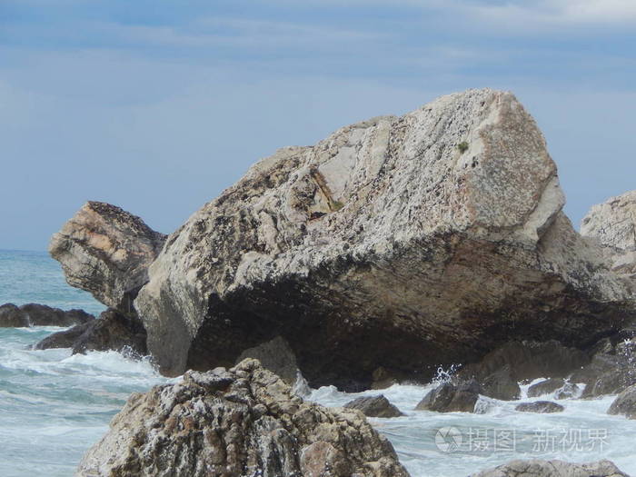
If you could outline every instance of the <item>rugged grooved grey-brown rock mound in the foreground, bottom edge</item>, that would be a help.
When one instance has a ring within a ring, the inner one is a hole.
[[[84,455],[79,476],[405,477],[363,413],[291,393],[255,360],[134,393]]]

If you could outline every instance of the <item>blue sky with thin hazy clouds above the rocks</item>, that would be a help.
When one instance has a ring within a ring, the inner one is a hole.
[[[634,0],[0,0],[0,248],[87,200],[164,233],[284,145],[510,90],[574,224],[636,189]]]

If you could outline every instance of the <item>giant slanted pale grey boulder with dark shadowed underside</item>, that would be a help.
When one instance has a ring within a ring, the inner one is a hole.
[[[313,386],[348,390],[380,367],[427,380],[515,336],[583,347],[634,307],[563,204],[512,94],[450,94],[254,164],[168,237],[134,307],[168,375],[230,366],[275,336]],[[54,250],[95,260],[75,245],[90,236],[66,235]],[[83,277],[69,281],[114,301],[129,288],[102,293]]]

